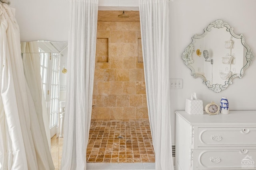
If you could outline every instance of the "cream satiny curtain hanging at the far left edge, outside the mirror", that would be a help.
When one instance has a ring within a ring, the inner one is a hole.
[[[28,88],[14,9],[0,3],[0,170],[54,170]]]

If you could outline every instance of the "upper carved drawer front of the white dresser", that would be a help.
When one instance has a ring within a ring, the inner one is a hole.
[[[198,147],[256,146],[256,128],[198,128]]]

